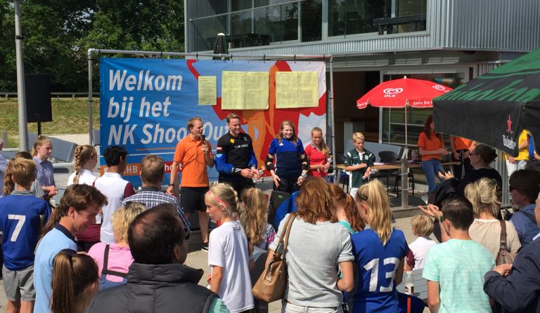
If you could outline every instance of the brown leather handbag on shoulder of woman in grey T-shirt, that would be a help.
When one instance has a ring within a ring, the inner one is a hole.
[[[281,230],[278,246],[274,252],[274,260],[271,260],[269,265],[262,272],[261,277],[252,288],[253,296],[265,302],[274,302],[283,299],[285,295],[285,287],[287,287],[287,261],[285,253],[287,253],[287,244],[289,241],[290,228],[293,226],[295,214],[291,213],[285,221],[285,226]],[[285,238],[285,244],[283,244]],[[283,244],[283,252],[279,253],[279,248]]]

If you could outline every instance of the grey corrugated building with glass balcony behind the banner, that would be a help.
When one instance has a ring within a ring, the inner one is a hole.
[[[540,46],[537,0],[186,0],[186,52],[333,55],[336,152],[352,131],[404,144],[404,110],[356,109],[380,81],[456,87]],[[327,79],[329,82],[329,79]],[[416,142],[431,109],[408,109]]]

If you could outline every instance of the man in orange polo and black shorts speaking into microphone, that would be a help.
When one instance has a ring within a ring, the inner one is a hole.
[[[192,117],[188,121],[189,135],[176,145],[171,167],[171,180],[167,193],[172,194],[176,173],[182,172],[180,182],[180,205],[184,214],[198,211],[200,234],[203,237],[203,250],[208,251],[208,215],[206,214],[205,194],[210,186],[207,166],[214,166],[214,156],[210,142],[203,140],[203,119]]]

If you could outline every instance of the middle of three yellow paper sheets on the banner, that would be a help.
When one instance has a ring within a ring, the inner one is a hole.
[[[268,72],[224,71],[221,109],[268,109]]]

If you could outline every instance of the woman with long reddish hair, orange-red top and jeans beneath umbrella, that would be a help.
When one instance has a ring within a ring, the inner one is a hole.
[[[439,170],[444,171],[441,164],[441,154],[448,154],[444,149],[442,135],[435,133],[432,115],[428,116],[428,119],[425,121],[424,131],[418,137],[418,152],[422,156],[422,168],[425,178],[428,180],[429,194],[437,188],[437,185],[435,185],[435,176],[438,177]]]

